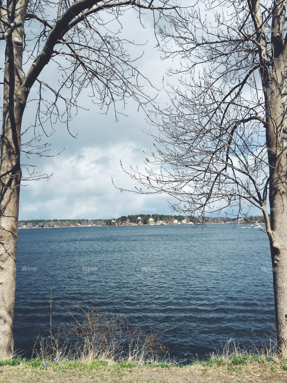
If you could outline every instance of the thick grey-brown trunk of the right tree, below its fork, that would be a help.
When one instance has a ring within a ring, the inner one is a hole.
[[[283,72],[283,71],[282,71]],[[275,78],[275,76],[274,76]],[[283,76],[269,83],[266,102],[266,144],[269,161],[269,234],[276,317],[276,340],[287,356],[287,152],[286,117],[282,103]]]

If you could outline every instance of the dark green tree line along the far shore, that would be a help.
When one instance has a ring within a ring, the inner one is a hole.
[[[139,217],[141,219],[139,219]],[[119,218],[113,219],[26,219],[22,221],[18,221],[18,227],[23,228],[53,228],[55,226],[69,227],[69,226],[78,226],[78,224],[82,226],[87,225],[101,225],[101,226],[116,226],[127,223],[141,223],[143,225],[149,222],[149,218],[153,218],[154,222],[162,221],[164,223],[173,223],[174,219],[177,219],[178,222],[186,219],[187,221],[191,221],[193,223],[197,222],[197,218],[194,216],[183,216],[183,215],[167,215],[167,214],[130,214],[127,216],[121,216]],[[253,222],[264,222],[263,216],[245,216],[241,218],[246,223]],[[226,222],[236,222],[237,218],[228,218],[228,217],[205,217],[206,223],[226,223]]]

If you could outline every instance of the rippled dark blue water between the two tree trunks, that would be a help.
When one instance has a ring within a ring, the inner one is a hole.
[[[261,345],[274,336],[267,235],[244,225],[21,229],[17,252],[15,349],[31,357],[67,309],[124,314],[168,329],[171,355],[205,355],[230,338]],[[24,269],[24,270],[23,270]],[[27,270],[25,270],[27,269]]]

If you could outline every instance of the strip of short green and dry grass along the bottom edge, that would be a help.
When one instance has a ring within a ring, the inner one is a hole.
[[[48,364],[48,363],[49,364]],[[44,363],[44,364],[43,364]],[[1,367],[3,366],[3,367]],[[0,383],[171,383],[192,381],[238,383],[248,377],[253,383],[287,381],[285,358],[273,359],[262,355],[236,355],[226,359],[214,356],[195,360],[189,365],[162,362],[130,362],[113,360],[54,361],[13,358],[0,361]]]

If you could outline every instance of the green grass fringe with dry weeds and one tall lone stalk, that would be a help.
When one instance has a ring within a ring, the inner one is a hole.
[[[51,296],[52,298],[52,296]],[[1,367],[27,366],[40,370],[81,371],[109,370],[119,372],[135,368],[183,368],[197,366],[204,372],[210,368],[223,367],[229,371],[240,370],[243,366],[262,365],[269,372],[287,371],[287,358],[280,358],[276,345],[270,342],[261,350],[242,350],[230,339],[222,350],[210,354],[205,359],[196,358],[176,361],[167,358],[167,349],[158,342],[160,333],[150,327],[144,333],[139,327],[131,326],[126,318],[106,314],[93,309],[80,310],[79,316],[73,316],[69,327],[58,329],[55,334],[51,328],[47,338],[39,334],[39,346],[33,351],[34,358],[13,357],[0,360]],[[51,304],[52,311],[52,304]]]

